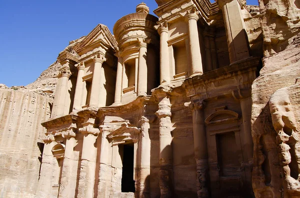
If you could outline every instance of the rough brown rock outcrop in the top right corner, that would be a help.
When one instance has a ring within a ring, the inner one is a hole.
[[[288,39],[299,32],[300,3],[298,0],[258,0],[263,31],[264,55],[280,52]]]

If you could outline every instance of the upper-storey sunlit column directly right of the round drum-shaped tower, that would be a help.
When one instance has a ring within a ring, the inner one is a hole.
[[[167,21],[155,26],[160,35],[160,84],[167,84],[170,82],[170,66],[169,66],[169,54],[168,54],[168,28]]]

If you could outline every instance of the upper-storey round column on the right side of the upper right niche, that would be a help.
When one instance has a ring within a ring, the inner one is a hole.
[[[193,8],[190,13],[186,15],[188,21],[188,38],[189,38],[189,51],[192,75],[203,74],[199,34],[197,27],[197,20],[199,19],[197,11]]]

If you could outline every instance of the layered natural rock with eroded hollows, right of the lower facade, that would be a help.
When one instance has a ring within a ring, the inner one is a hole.
[[[300,35],[284,51],[262,59],[252,85],[252,182],[256,198],[300,196]]]

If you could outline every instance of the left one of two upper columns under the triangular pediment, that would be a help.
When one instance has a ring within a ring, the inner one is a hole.
[[[81,109],[81,98],[82,98],[82,90],[83,90],[83,81],[82,77],[84,75],[84,63],[78,63],[77,65],[78,74],[77,74],[77,81],[76,81],[76,88],[74,94],[74,103],[73,103],[73,110],[72,111],[79,111]]]

